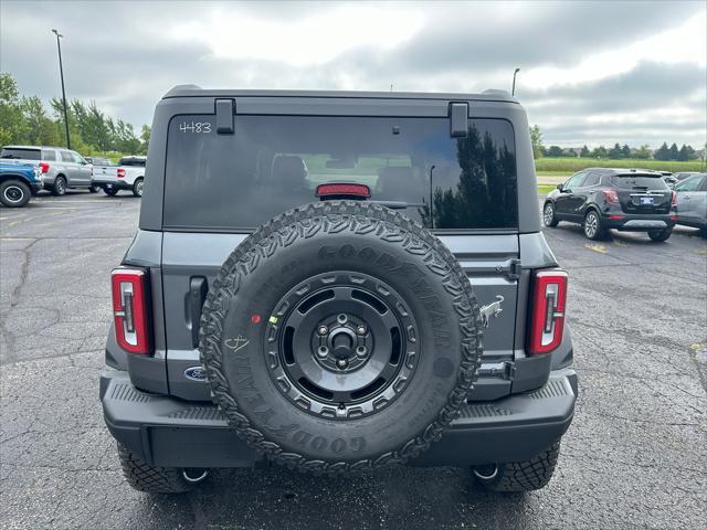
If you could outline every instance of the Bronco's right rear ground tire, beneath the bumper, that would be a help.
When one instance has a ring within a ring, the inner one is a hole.
[[[559,453],[560,439],[558,438],[535,458],[477,466],[474,468],[474,476],[484,488],[492,491],[532,491],[544,488],[550,481]]]

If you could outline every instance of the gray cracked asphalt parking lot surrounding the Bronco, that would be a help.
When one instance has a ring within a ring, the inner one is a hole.
[[[169,498],[124,483],[98,403],[108,273],[138,209],[125,192],[76,192],[0,210],[3,529],[704,528],[707,241],[693,231],[600,244],[572,225],[546,232],[570,272],[580,396],[544,490],[490,495],[454,468],[272,468]]]

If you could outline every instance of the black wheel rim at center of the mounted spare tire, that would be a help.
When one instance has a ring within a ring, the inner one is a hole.
[[[418,364],[418,326],[402,297],[370,276],[336,272],[293,288],[275,306],[265,354],[296,406],[348,420],[392,403]]]

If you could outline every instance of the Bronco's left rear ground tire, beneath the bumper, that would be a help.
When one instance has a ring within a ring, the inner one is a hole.
[[[178,467],[150,466],[124,445],[119,443],[117,445],[123,475],[130,487],[138,491],[147,494],[183,494],[192,490],[208,475],[205,469],[189,469],[189,476],[193,478],[187,480],[182,469]]]

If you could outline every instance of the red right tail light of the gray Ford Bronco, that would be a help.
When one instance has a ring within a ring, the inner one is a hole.
[[[535,275],[528,344],[532,356],[548,353],[562,342],[567,280],[567,273],[559,268]]]

